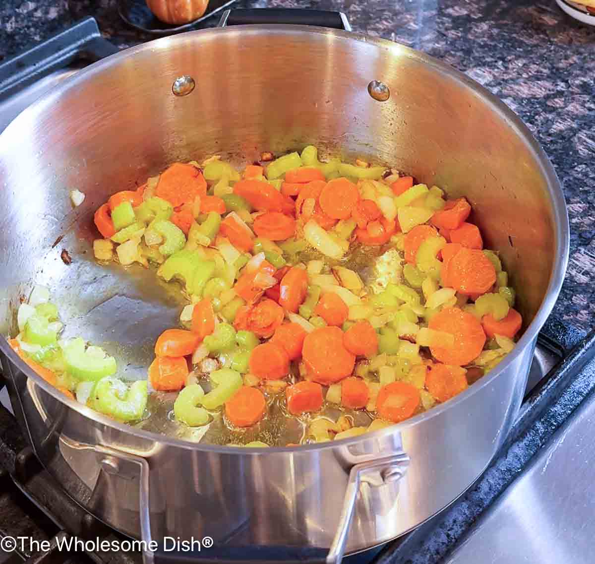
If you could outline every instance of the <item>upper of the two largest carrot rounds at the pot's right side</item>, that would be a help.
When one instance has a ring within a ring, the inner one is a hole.
[[[483,251],[462,247],[448,262],[446,280],[462,294],[483,294],[496,282],[496,269]]]

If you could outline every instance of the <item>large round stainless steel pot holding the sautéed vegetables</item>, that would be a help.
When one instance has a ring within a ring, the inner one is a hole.
[[[196,87],[176,96],[183,75]],[[372,80],[388,86],[387,101],[369,95]],[[148,293],[142,269],[95,264],[92,212],[176,159],[252,161],[262,149],[307,143],[374,155],[465,195],[518,290],[524,334],[497,368],[430,412],[298,449],[208,446],[118,424],[65,399],[0,340],[11,399],[37,456],[120,531],[144,540],[209,535],[215,547],[323,549],[312,556],[331,547],[327,561],[337,562],[343,550],[395,538],[447,506],[506,437],[568,257],[558,180],[527,128],[477,83],[355,33],[242,26],[159,39],[90,66],[24,111],[0,136],[2,333],[14,331],[18,297],[35,281],[61,304],[68,334],[105,343],[129,361],[127,374],[142,375],[179,303],[164,287]],[[73,188],[86,193],[76,209]],[[247,550],[247,559],[270,557]]]

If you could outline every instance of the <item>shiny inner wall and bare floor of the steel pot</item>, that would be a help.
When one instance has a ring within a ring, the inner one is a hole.
[[[196,83],[187,96],[172,91],[181,75]],[[387,101],[371,98],[371,80],[389,86]],[[519,121],[462,75],[394,43],[251,26],[110,57],[0,136],[0,330],[14,334],[19,297],[44,284],[65,336],[102,344],[121,375],[145,378],[156,336],[177,324],[179,293],[141,267],[97,265],[93,211],[178,159],[216,153],[239,164],[309,143],[466,196],[511,275],[525,326],[547,302],[543,322],[563,273],[567,220],[555,175]],[[86,194],[76,209],[72,189]]]

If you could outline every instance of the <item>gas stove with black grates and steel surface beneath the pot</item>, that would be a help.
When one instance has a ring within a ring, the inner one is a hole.
[[[117,50],[87,18],[0,64],[0,132],[52,86]],[[518,419],[483,475],[414,531],[343,562],[591,562],[595,486],[588,423],[595,418],[594,353],[595,332],[585,335],[550,318],[538,337]],[[91,545],[76,553],[59,550],[72,537],[120,544],[126,537],[62,491],[27,445],[5,388],[0,400],[0,548],[5,549],[0,564],[142,562],[134,550],[98,552]],[[2,543],[8,537],[27,542],[12,549]]]

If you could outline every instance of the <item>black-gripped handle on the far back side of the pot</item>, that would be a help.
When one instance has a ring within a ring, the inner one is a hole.
[[[293,24],[295,26],[332,27],[351,31],[343,12],[305,10],[303,8],[247,8],[226,10],[217,27],[244,26],[247,24]]]

